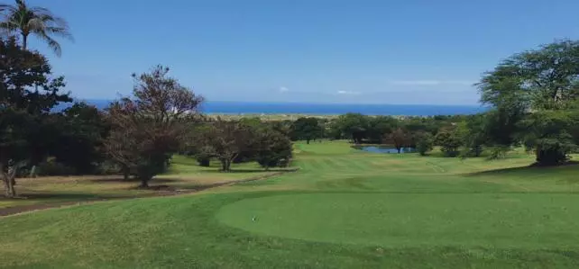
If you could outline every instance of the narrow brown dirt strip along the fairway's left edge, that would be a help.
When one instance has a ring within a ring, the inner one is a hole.
[[[295,168],[295,169],[284,170],[284,171],[272,173],[269,175],[255,176],[252,178],[233,181],[233,182],[227,181],[227,182],[218,182],[215,184],[199,185],[198,187],[194,187],[194,188],[190,188],[190,189],[184,189],[184,190],[177,190],[177,189],[171,188],[171,187],[166,186],[166,185],[161,185],[161,186],[152,187],[152,191],[155,191],[155,193],[143,193],[143,194],[135,195],[133,197],[96,198],[96,199],[90,199],[90,200],[38,203],[38,204],[31,204],[31,205],[6,207],[6,208],[0,208],[0,217],[20,214],[23,212],[42,211],[42,210],[47,210],[47,209],[54,209],[54,208],[81,205],[81,204],[87,204],[87,203],[95,203],[95,202],[122,201],[122,200],[138,199],[138,198],[151,198],[151,197],[175,196],[175,195],[188,194],[188,193],[198,193],[201,191],[205,191],[207,189],[212,189],[212,188],[226,186],[226,185],[241,184],[241,183],[252,182],[252,181],[256,181],[256,180],[265,180],[265,179],[271,178],[273,176],[297,172],[298,170],[299,170],[299,168]]]

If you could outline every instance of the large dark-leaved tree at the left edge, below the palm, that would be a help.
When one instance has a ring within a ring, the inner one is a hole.
[[[0,179],[14,197],[19,168],[45,156],[52,136],[43,133],[51,108],[70,102],[60,94],[64,77],[51,78],[48,60],[20,48],[14,38],[0,40]]]

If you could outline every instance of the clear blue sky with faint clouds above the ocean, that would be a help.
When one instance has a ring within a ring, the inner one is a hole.
[[[501,58],[579,36],[576,0],[28,2],[69,21],[50,58],[86,99],[162,64],[209,101],[472,104]]]

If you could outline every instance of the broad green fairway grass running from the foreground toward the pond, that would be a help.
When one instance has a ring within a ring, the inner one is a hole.
[[[203,194],[0,219],[0,267],[579,267],[579,166],[349,146],[299,144],[298,173]]]

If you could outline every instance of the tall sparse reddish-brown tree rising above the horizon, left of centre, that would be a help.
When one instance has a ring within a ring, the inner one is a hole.
[[[203,101],[168,73],[169,68],[157,66],[151,73],[133,74],[133,97],[107,109],[112,130],[106,153],[133,171],[141,187],[148,187],[152,177],[169,165]]]

